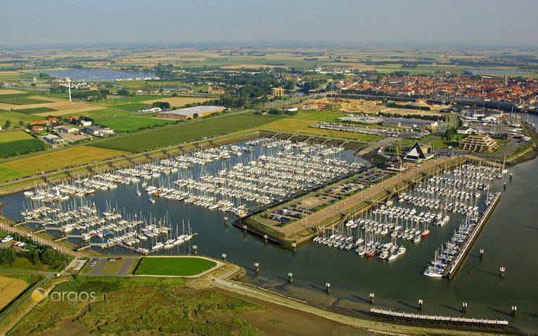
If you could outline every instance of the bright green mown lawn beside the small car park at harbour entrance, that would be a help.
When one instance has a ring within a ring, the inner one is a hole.
[[[143,258],[136,269],[139,276],[195,276],[217,263],[197,257]]]

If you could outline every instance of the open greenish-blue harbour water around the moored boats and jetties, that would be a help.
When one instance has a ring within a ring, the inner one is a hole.
[[[530,117],[538,122],[537,116]],[[259,150],[257,147],[256,151]],[[342,157],[354,160],[351,155],[351,152],[342,153]],[[249,157],[250,154],[245,153],[233,160],[248,160]],[[207,169],[221,167],[221,162],[214,162]],[[495,182],[494,190],[502,190],[502,183],[506,181],[506,191],[453,280],[428,278],[422,272],[433,259],[435,250],[449,240],[462,219],[461,215],[451,215],[451,221],[443,227],[430,226],[430,235],[417,245],[404,243],[407,252],[389,263],[316,243],[302,245],[295,253],[276,245],[266,245],[253,235],[243,235],[231,224],[224,226],[224,216],[230,221],[235,219],[231,214],[172,200],[158,199],[155,205],[150,205],[144,193],[140,198],[136,196],[136,186],[132,185],[98,191],[87,199],[100,208],[105,207],[105,202],[117,203],[127,212],[142,212],[145,216],[162,217],[168,212],[172,221],[179,223],[180,230],[181,219],[189,220],[193,232],[199,233],[191,241],[191,245],[198,246],[199,254],[220,258],[226,253],[229,261],[247,269],[245,280],[347,314],[369,316],[366,302],[369,293],[375,292],[378,307],[416,312],[416,302],[423,299],[423,314],[461,316],[461,303],[465,301],[468,317],[506,319],[524,330],[535,332],[538,330],[538,289],[532,274],[538,267],[538,245],[535,243],[538,237],[538,193],[534,188],[537,171],[538,160],[532,160],[511,169],[512,181],[508,180],[507,174],[504,180]],[[193,172],[199,173],[200,167],[195,167]],[[24,200],[22,194],[17,194],[1,198],[0,202],[9,203],[4,209],[7,217],[20,219],[18,212]],[[162,253],[187,254],[191,245],[181,245]],[[478,258],[481,248],[485,250],[482,261]],[[115,252],[124,250],[117,247],[110,251]],[[254,262],[260,263],[258,276],[254,274]],[[499,266],[506,267],[503,279],[498,276]],[[293,285],[288,285],[288,272],[293,272]],[[331,283],[331,294],[324,292],[326,282]],[[513,304],[518,306],[515,318],[510,316]]]

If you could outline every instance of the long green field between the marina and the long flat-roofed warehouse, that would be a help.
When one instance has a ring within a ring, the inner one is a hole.
[[[96,147],[124,150],[128,152],[141,152],[174,144],[193,141],[205,136],[231,133],[261,127],[268,122],[281,119],[276,116],[253,115],[241,113],[200,119],[191,122],[167,125],[158,129],[149,129],[125,136],[116,136],[105,141],[96,143]]]

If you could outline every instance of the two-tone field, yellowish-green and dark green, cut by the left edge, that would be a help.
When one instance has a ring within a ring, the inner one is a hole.
[[[44,150],[46,144],[25,131],[0,131],[0,158]]]

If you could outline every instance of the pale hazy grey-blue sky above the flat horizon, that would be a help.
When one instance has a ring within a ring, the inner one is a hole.
[[[2,0],[1,44],[537,46],[537,0]]]

